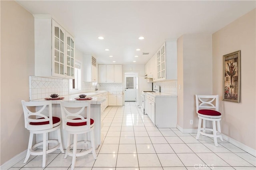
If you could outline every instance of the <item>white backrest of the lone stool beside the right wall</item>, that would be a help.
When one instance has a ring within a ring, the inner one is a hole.
[[[196,95],[196,112],[200,109],[219,111],[219,95]]]

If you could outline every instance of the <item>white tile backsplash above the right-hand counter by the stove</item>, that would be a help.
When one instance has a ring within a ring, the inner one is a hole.
[[[177,95],[177,80],[159,81],[154,85],[159,85],[162,93]]]

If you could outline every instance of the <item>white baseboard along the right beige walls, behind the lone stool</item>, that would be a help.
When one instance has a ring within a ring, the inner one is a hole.
[[[179,125],[177,125],[177,128],[182,132],[182,133],[197,133],[197,128],[182,128]],[[252,154],[253,156],[256,156],[256,150],[253,148],[250,148],[249,146],[246,146],[245,144],[242,144],[241,142],[238,142],[237,140],[230,138],[229,136],[222,134],[222,138],[238,148],[241,148],[242,150],[248,152],[249,154]]]

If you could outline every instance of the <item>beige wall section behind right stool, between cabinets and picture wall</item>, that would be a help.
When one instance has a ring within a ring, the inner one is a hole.
[[[196,94],[212,94],[211,34],[185,34],[178,39],[178,125],[182,128],[198,127]]]

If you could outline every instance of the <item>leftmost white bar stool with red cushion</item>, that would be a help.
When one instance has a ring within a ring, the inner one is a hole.
[[[26,102],[22,100],[21,102],[24,112],[25,128],[30,132],[28,150],[23,163],[28,161],[30,155],[43,155],[42,167],[44,168],[46,166],[46,154],[58,148],[64,153],[60,136],[60,118],[52,116],[51,101]],[[40,108],[39,111],[35,111],[36,108],[34,107]],[[55,130],[58,133],[58,140],[48,140],[48,133]],[[43,141],[32,145],[34,134],[43,134]],[[53,143],[54,146],[51,145],[51,148],[48,149],[50,143]],[[43,145],[41,152],[36,150],[40,145]]]

